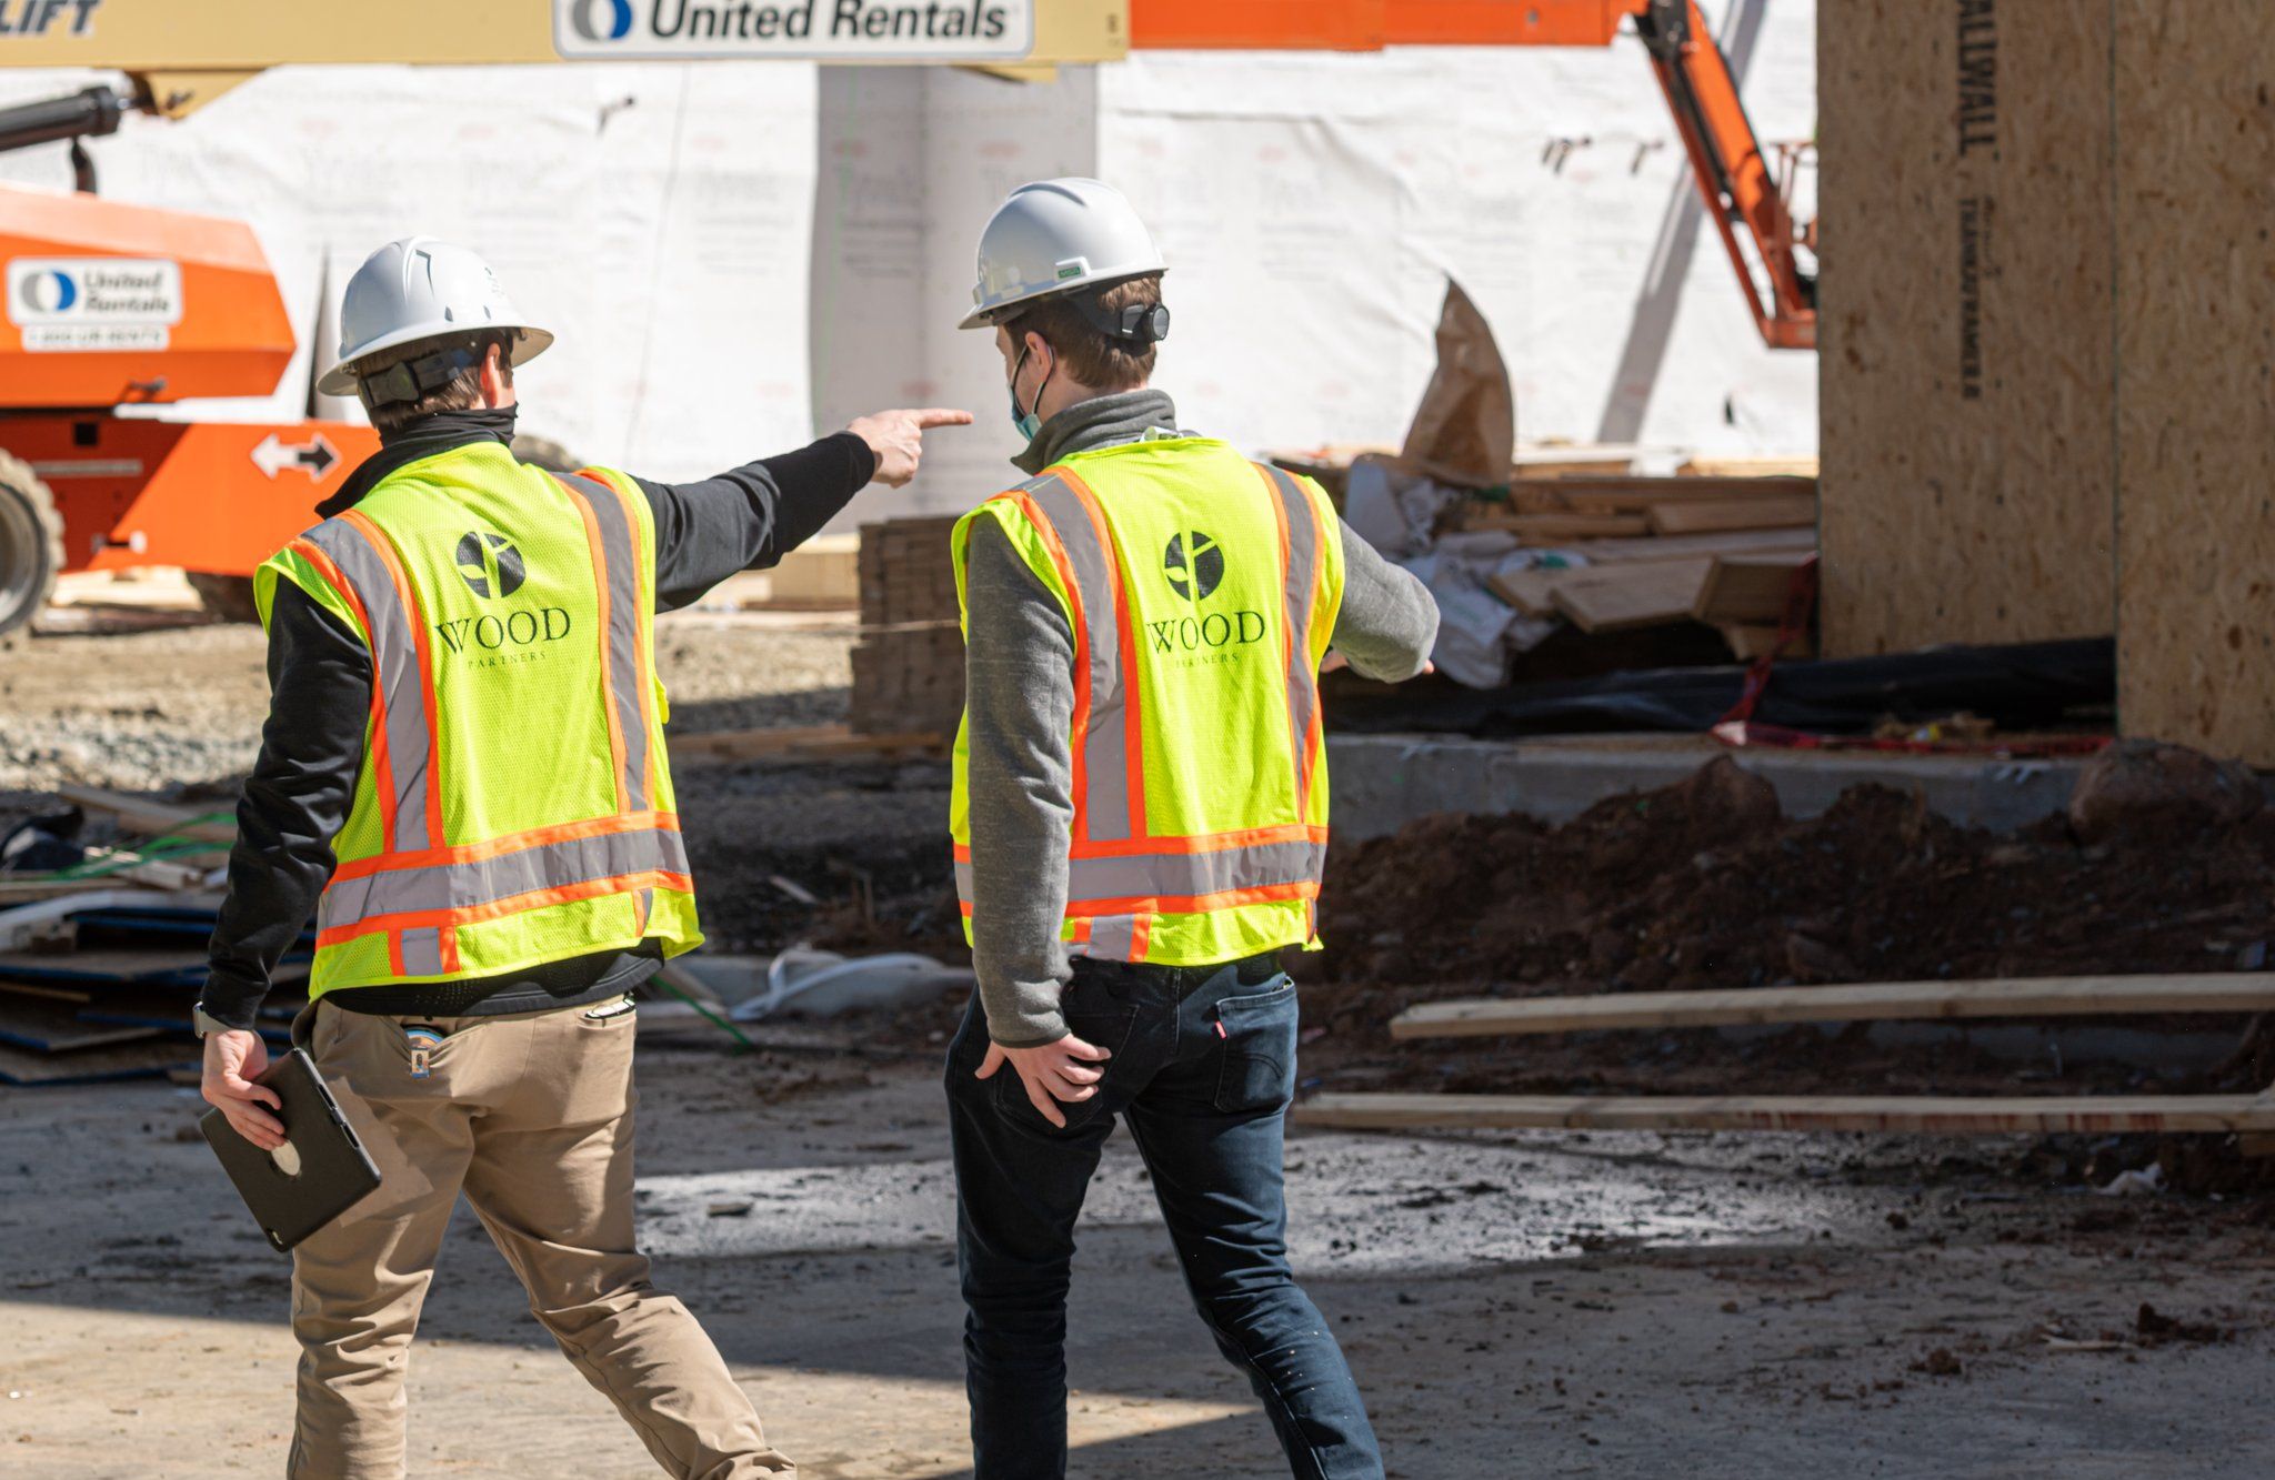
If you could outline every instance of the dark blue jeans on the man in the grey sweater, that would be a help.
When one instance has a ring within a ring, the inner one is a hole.
[[[1076,962],[1074,1037],[1112,1050],[1099,1094],[1044,1121],[987,1053],[978,998],[949,1048],[965,1385],[978,1480],[1067,1473],[1074,1219],[1115,1116],[1153,1173],[1185,1287],[1249,1375],[1301,1480],[1381,1480],[1358,1382],[1288,1271],[1281,1141],[1294,1094],[1294,982],[1272,957],[1176,968]]]

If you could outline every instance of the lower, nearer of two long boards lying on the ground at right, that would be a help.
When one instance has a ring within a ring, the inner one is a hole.
[[[1322,1094],[1297,1105],[1294,1119],[1342,1130],[2268,1132],[2275,1096]]]

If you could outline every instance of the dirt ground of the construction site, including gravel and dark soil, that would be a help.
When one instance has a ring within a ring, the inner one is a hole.
[[[676,727],[844,712],[842,630],[692,614],[662,625],[660,648]],[[243,627],[43,637],[0,652],[0,825],[48,805],[59,780],[223,798],[250,764],[262,709],[259,641]],[[680,796],[723,946],[940,941],[953,925],[942,766],[689,766]],[[1936,953],[1982,971],[2029,937],[2068,953],[2048,968],[2079,968],[2100,950],[2082,932],[2095,912],[2066,900],[2095,887],[2132,889],[2125,918],[2152,923],[2120,932],[2129,943],[2113,966],[2189,939],[2211,968],[2241,966],[2266,921],[2261,823],[2223,823],[2179,850],[2200,871],[2166,884],[2125,866],[2123,848],[2095,857],[2054,832],[1954,837],[1872,798],[1806,825],[1749,814],[1743,796],[1690,800],[1631,800],[1563,841],[1445,823],[1458,846],[1442,875],[1390,848],[1338,855],[1340,950],[1306,984],[1306,1080],[1672,1089],[1756,1073],[1918,1089],[1979,1075],[2043,1091],[2043,1071],[1952,1048],[1854,1041],[1840,1057],[1813,1034],[1638,1034],[1463,1057],[1392,1048],[1381,1021],[1410,996],[1479,984],[1677,984],[1693,966],[1699,984],[1843,975],[1790,939],[1856,971]],[[1836,928],[1859,887],[1843,893],[1818,862],[1834,837],[1820,828],[1881,839],[1866,864],[1902,907]],[[1779,891],[1777,909],[1734,916],[1702,857],[1736,859],[1738,878]],[[2013,918],[2007,939],[1970,946],[1988,955],[1959,957],[1950,941],[1970,941],[1963,930],[1945,943],[1922,932],[1975,907],[1984,868],[2068,873],[2034,896],[2043,918]],[[1413,893],[1370,916],[1354,880],[1408,880]],[[1458,900],[1472,930],[1415,928],[1422,907],[1454,918]],[[1497,900],[1533,900],[1531,914],[1497,916]],[[1599,918],[1618,909],[1633,914]],[[712,1030],[644,1009],[644,1239],[808,1475],[969,1473],[937,1084],[953,1012],[776,1028],[762,1034],[771,1048],[735,1057]],[[2073,1073],[2111,1084],[2143,1071]],[[162,1082],[0,1089],[0,1473],[282,1469],[284,1264],[216,1175],[196,1112],[191,1091]],[[1367,1389],[1390,1473],[1408,1480],[1670,1466],[2275,1473],[2275,1425],[2261,1421],[2275,1412],[2275,1221],[2248,1184],[2216,1175],[2179,1178],[2186,1194],[2095,1191],[2159,1153],[2209,1155],[2120,1141],[1304,1132],[1290,1146],[1292,1255]],[[462,1219],[428,1305],[412,1360],[414,1473],[653,1473],[482,1246]],[[1085,1212],[1072,1332],[1076,1475],[1285,1473],[1254,1396],[1181,1300],[1126,1137]]]

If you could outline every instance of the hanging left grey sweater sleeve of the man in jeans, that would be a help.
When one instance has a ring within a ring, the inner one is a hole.
[[[971,968],[987,1037],[1033,1048],[1067,1037],[1058,993],[1074,828],[1074,632],[987,518],[965,562],[965,705],[971,716]]]

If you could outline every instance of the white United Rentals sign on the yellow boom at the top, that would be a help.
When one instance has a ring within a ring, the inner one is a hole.
[[[1021,61],[1035,0],[553,0],[569,59]]]

